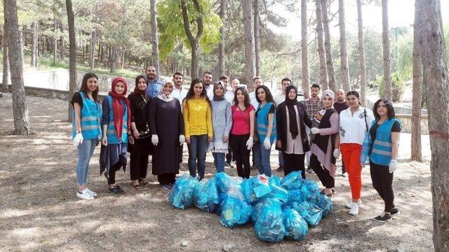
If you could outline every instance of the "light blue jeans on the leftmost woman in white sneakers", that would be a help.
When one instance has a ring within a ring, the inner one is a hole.
[[[89,162],[97,144],[97,139],[84,139],[83,144],[76,147],[78,149],[78,163],[76,164],[76,184],[78,186],[84,186],[87,183]]]

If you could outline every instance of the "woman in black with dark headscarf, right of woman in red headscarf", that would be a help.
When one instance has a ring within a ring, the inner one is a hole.
[[[149,107],[152,99],[146,94],[147,76],[140,75],[135,78],[134,91],[128,95],[131,109],[131,130],[134,144],[128,146],[130,152],[130,177],[133,188],[148,186],[147,167],[148,156],[152,152],[152,143],[149,138]],[[142,134],[140,135],[140,132]],[[140,184],[142,183],[142,185]]]

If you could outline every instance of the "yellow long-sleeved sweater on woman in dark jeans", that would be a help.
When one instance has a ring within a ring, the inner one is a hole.
[[[210,112],[209,103],[204,98],[192,98],[182,104],[186,138],[202,134],[213,137],[212,116]]]

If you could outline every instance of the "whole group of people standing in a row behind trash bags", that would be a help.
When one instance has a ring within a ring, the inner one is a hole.
[[[250,153],[260,174],[272,176],[272,146],[279,151],[279,171],[284,175],[300,171],[306,178],[304,162],[323,184],[322,194],[335,194],[336,160],[342,156],[343,173],[348,174],[351,201],[349,214],[361,208],[361,169],[370,162],[373,186],[384,200],[384,213],[376,221],[388,221],[398,214],[391,187],[398,156],[401,123],[387,99],[375,102],[373,111],[361,106],[358,92],[324,90],[311,85],[311,97],[298,101],[298,90],[288,78],[281,81],[281,92],[273,97],[260,76],[253,80],[254,91],[247,91],[238,79],[229,84],[228,76],[213,83],[211,73],[194,79],[189,89],[182,86],[182,73],[173,80],[156,78],[156,69],[135,78],[128,97],[124,78],[112,80],[111,90],[100,105],[98,77],[83,76],[81,88],[72,97],[76,165],[76,196],[93,199],[97,193],[87,187],[89,161],[101,143],[100,174],[109,192],[123,193],[115,175],[126,169],[130,153],[130,179],[133,188],[148,186],[147,166],[152,155],[152,174],[162,188],[171,189],[182,164],[183,144],[189,152],[191,176],[204,178],[206,153],[213,155],[217,172],[225,172],[235,160],[237,174],[250,176]],[[346,99],[346,101],[345,101]]]

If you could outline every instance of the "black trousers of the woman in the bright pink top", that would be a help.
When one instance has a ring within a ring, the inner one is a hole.
[[[246,141],[248,141],[250,134],[234,135],[231,134],[229,144],[231,144],[232,154],[236,159],[237,174],[243,179],[250,177],[250,150],[246,148]]]

